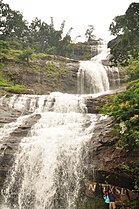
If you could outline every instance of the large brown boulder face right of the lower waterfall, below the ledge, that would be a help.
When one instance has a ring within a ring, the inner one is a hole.
[[[113,123],[112,118],[105,116],[96,124],[92,140],[88,144],[87,175],[100,183],[104,183],[107,179],[109,184],[133,189],[134,177],[129,177],[120,171],[120,165],[127,161],[127,156],[115,149],[118,138],[111,132]],[[139,155],[136,156],[137,158]]]

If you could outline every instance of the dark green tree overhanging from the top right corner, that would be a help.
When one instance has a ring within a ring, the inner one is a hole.
[[[117,36],[109,42],[111,61],[127,65],[130,58],[139,53],[139,3],[131,3],[124,15],[114,18],[110,25],[111,34]]]

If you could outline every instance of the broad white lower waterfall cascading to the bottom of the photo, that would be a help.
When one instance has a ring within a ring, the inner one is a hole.
[[[4,127],[7,135],[13,131],[11,126],[20,126],[29,115],[41,118],[19,144],[0,208],[75,209],[84,177],[85,147],[98,120],[87,113],[85,97],[60,92],[14,95],[3,97],[2,104],[22,111],[17,121]]]

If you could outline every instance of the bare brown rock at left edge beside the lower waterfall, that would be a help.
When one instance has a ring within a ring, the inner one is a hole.
[[[18,149],[20,140],[27,136],[32,125],[40,118],[39,114],[34,114],[33,116],[28,117],[22,125],[13,129],[11,134],[8,136],[8,133],[6,133],[7,125],[10,124],[12,129],[13,123],[16,127],[14,123],[21,114],[22,112],[14,110],[13,108],[1,107],[0,109],[1,135],[5,136],[0,140],[0,188],[2,188],[6,174],[12,166],[14,154]]]

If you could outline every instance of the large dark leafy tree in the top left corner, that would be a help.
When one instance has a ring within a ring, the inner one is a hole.
[[[0,38],[8,41],[11,48],[22,49],[27,46],[28,23],[19,11],[13,11],[8,4],[0,2]]]

